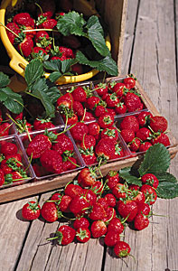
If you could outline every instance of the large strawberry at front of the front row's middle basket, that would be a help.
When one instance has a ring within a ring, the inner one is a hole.
[[[95,147],[95,153],[99,161],[112,159],[115,156],[115,142],[110,138],[101,138]]]

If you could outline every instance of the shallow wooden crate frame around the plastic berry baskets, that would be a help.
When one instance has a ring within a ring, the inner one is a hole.
[[[122,78],[123,76],[112,79],[122,79]],[[153,115],[159,115],[159,112],[155,108],[150,98],[148,98],[147,94],[145,93],[145,90],[141,87],[138,81],[136,81],[136,88],[141,93],[142,98],[145,101],[145,107],[147,107],[148,110],[150,110]],[[173,137],[171,133],[169,134],[169,137],[172,145],[171,147],[168,148],[168,150],[171,154],[171,158],[173,158],[175,154],[178,152],[178,145],[176,139]],[[135,163],[139,163],[141,159],[143,159],[143,155],[126,158],[124,160],[120,160],[113,163],[108,163],[101,166],[101,172],[105,176],[108,173],[108,170],[118,171],[126,166],[131,166]],[[47,192],[59,189],[63,187],[66,183],[72,181],[77,176],[78,173],[79,171],[74,173],[66,173],[48,180],[46,179],[42,181],[28,182],[18,186],[2,189],[0,190],[0,202],[13,201],[30,195],[38,194],[40,192]]]

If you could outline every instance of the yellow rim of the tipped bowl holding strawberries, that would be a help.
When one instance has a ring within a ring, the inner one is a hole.
[[[80,0],[82,2],[82,5],[84,8],[89,9],[89,3],[85,6],[85,1]],[[0,9],[0,23],[5,25],[5,12],[7,8],[12,8],[14,9],[16,5],[18,5],[17,2],[20,2],[19,0],[3,0],[1,4],[1,9]],[[80,4],[79,4],[80,5]],[[96,12],[96,11],[94,11]],[[9,41],[9,38],[7,36],[5,27],[0,24],[0,35],[1,35],[1,40],[5,45],[5,50],[7,51],[8,56],[10,57],[11,61],[9,62],[10,67],[15,70],[17,73],[19,73],[21,76],[24,77],[24,69],[26,65],[29,63],[28,61],[25,61],[23,59],[23,56],[15,50],[14,46],[12,43]],[[108,46],[108,50],[111,50],[111,44],[110,44],[110,39],[109,36],[106,38],[106,45]],[[92,78],[96,74],[98,74],[98,70],[93,69],[89,70],[89,72],[76,75],[76,76],[62,76],[59,78],[56,83],[58,85],[63,85],[63,84],[69,84],[69,83],[75,83],[75,82],[80,82],[84,81],[87,79]],[[48,78],[50,76],[50,73],[45,73],[45,77]]]

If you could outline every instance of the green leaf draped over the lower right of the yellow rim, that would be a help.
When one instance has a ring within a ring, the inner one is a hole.
[[[100,71],[106,71],[112,76],[118,75],[117,63],[111,58],[110,54],[100,61],[89,61],[81,51],[78,51],[76,59],[80,64],[89,65],[91,68],[95,68]]]

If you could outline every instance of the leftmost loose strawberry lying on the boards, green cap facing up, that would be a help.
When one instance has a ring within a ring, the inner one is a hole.
[[[23,205],[22,215],[25,220],[36,220],[40,217],[41,207],[37,201],[28,201]]]

